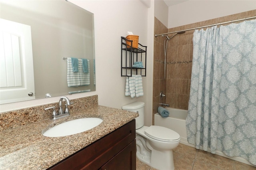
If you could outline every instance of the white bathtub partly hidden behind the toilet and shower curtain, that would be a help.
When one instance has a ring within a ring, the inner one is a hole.
[[[170,128],[180,134],[180,143],[193,146],[187,141],[186,133],[186,117],[188,115],[187,110],[175,109],[171,107],[166,107],[170,112],[169,117],[162,118],[159,113],[155,114],[155,125]]]

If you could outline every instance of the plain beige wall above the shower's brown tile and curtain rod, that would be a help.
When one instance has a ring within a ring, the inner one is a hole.
[[[169,7],[167,28],[202,22],[255,9],[255,0],[188,0]]]

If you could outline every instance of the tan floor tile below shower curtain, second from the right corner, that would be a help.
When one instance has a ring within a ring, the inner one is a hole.
[[[234,170],[234,160],[216,154],[211,154],[210,152],[206,152],[203,150],[198,150],[196,154],[196,160],[205,162],[206,164],[217,166],[224,170]]]

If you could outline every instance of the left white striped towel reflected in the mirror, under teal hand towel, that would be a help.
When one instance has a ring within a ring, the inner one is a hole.
[[[72,59],[70,57],[67,58],[67,82],[68,87],[80,86],[80,73],[73,72]]]

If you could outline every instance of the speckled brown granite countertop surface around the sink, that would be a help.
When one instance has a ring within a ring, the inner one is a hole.
[[[85,132],[63,137],[46,137],[42,132],[62,122],[98,117],[103,121]],[[46,169],[138,117],[138,113],[104,106],[70,112],[70,116],[45,119],[0,132],[0,169]]]

